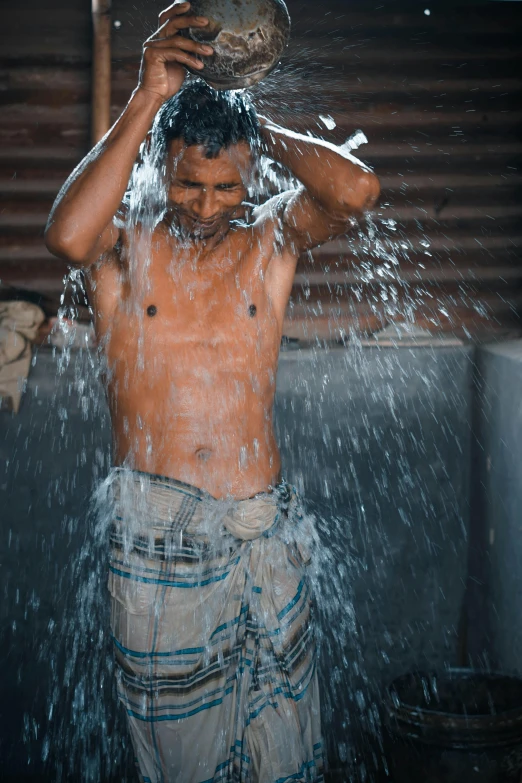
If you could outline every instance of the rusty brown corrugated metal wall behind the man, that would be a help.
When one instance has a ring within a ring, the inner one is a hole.
[[[302,260],[287,334],[338,338],[412,318],[461,336],[518,328],[522,2],[288,5],[292,44],[255,93],[262,110],[337,141],[361,129],[369,144],[357,154],[383,194],[366,238]],[[91,23],[89,0],[49,6],[2,11],[0,278],[3,296],[32,291],[52,312],[66,267],[43,226],[88,149]],[[161,7],[113,1],[114,118]]]

